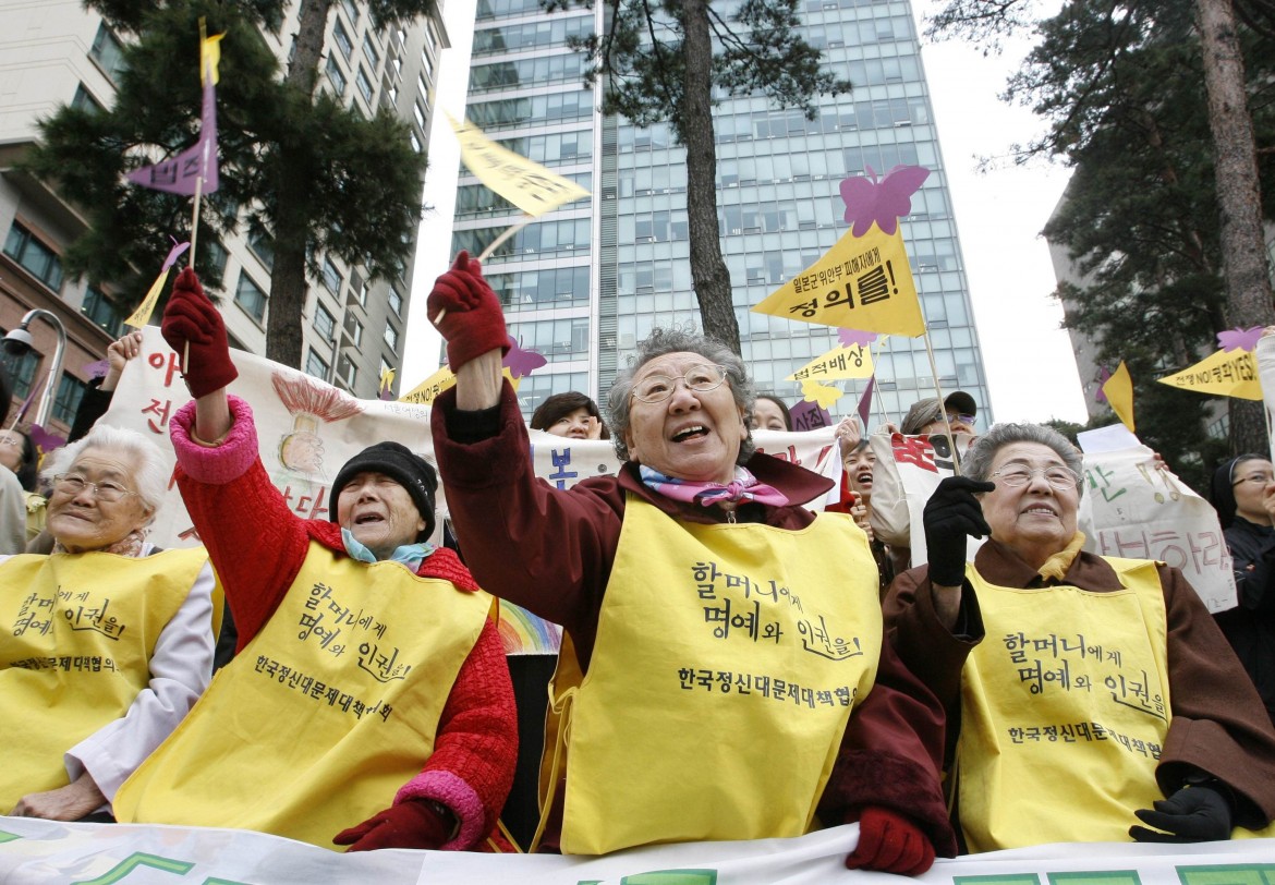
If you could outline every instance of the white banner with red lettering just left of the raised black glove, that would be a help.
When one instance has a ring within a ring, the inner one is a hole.
[[[968,434],[956,434],[958,457],[964,455],[973,441],[974,437]],[[876,455],[872,468],[872,530],[887,545],[909,547],[912,565],[922,565],[927,561],[922,519],[926,501],[945,477],[955,474],[951,440],[940,434],[872,434],[868,448]],[[969,539],[969,559],[974,559],[982,543],[978,538]]]

